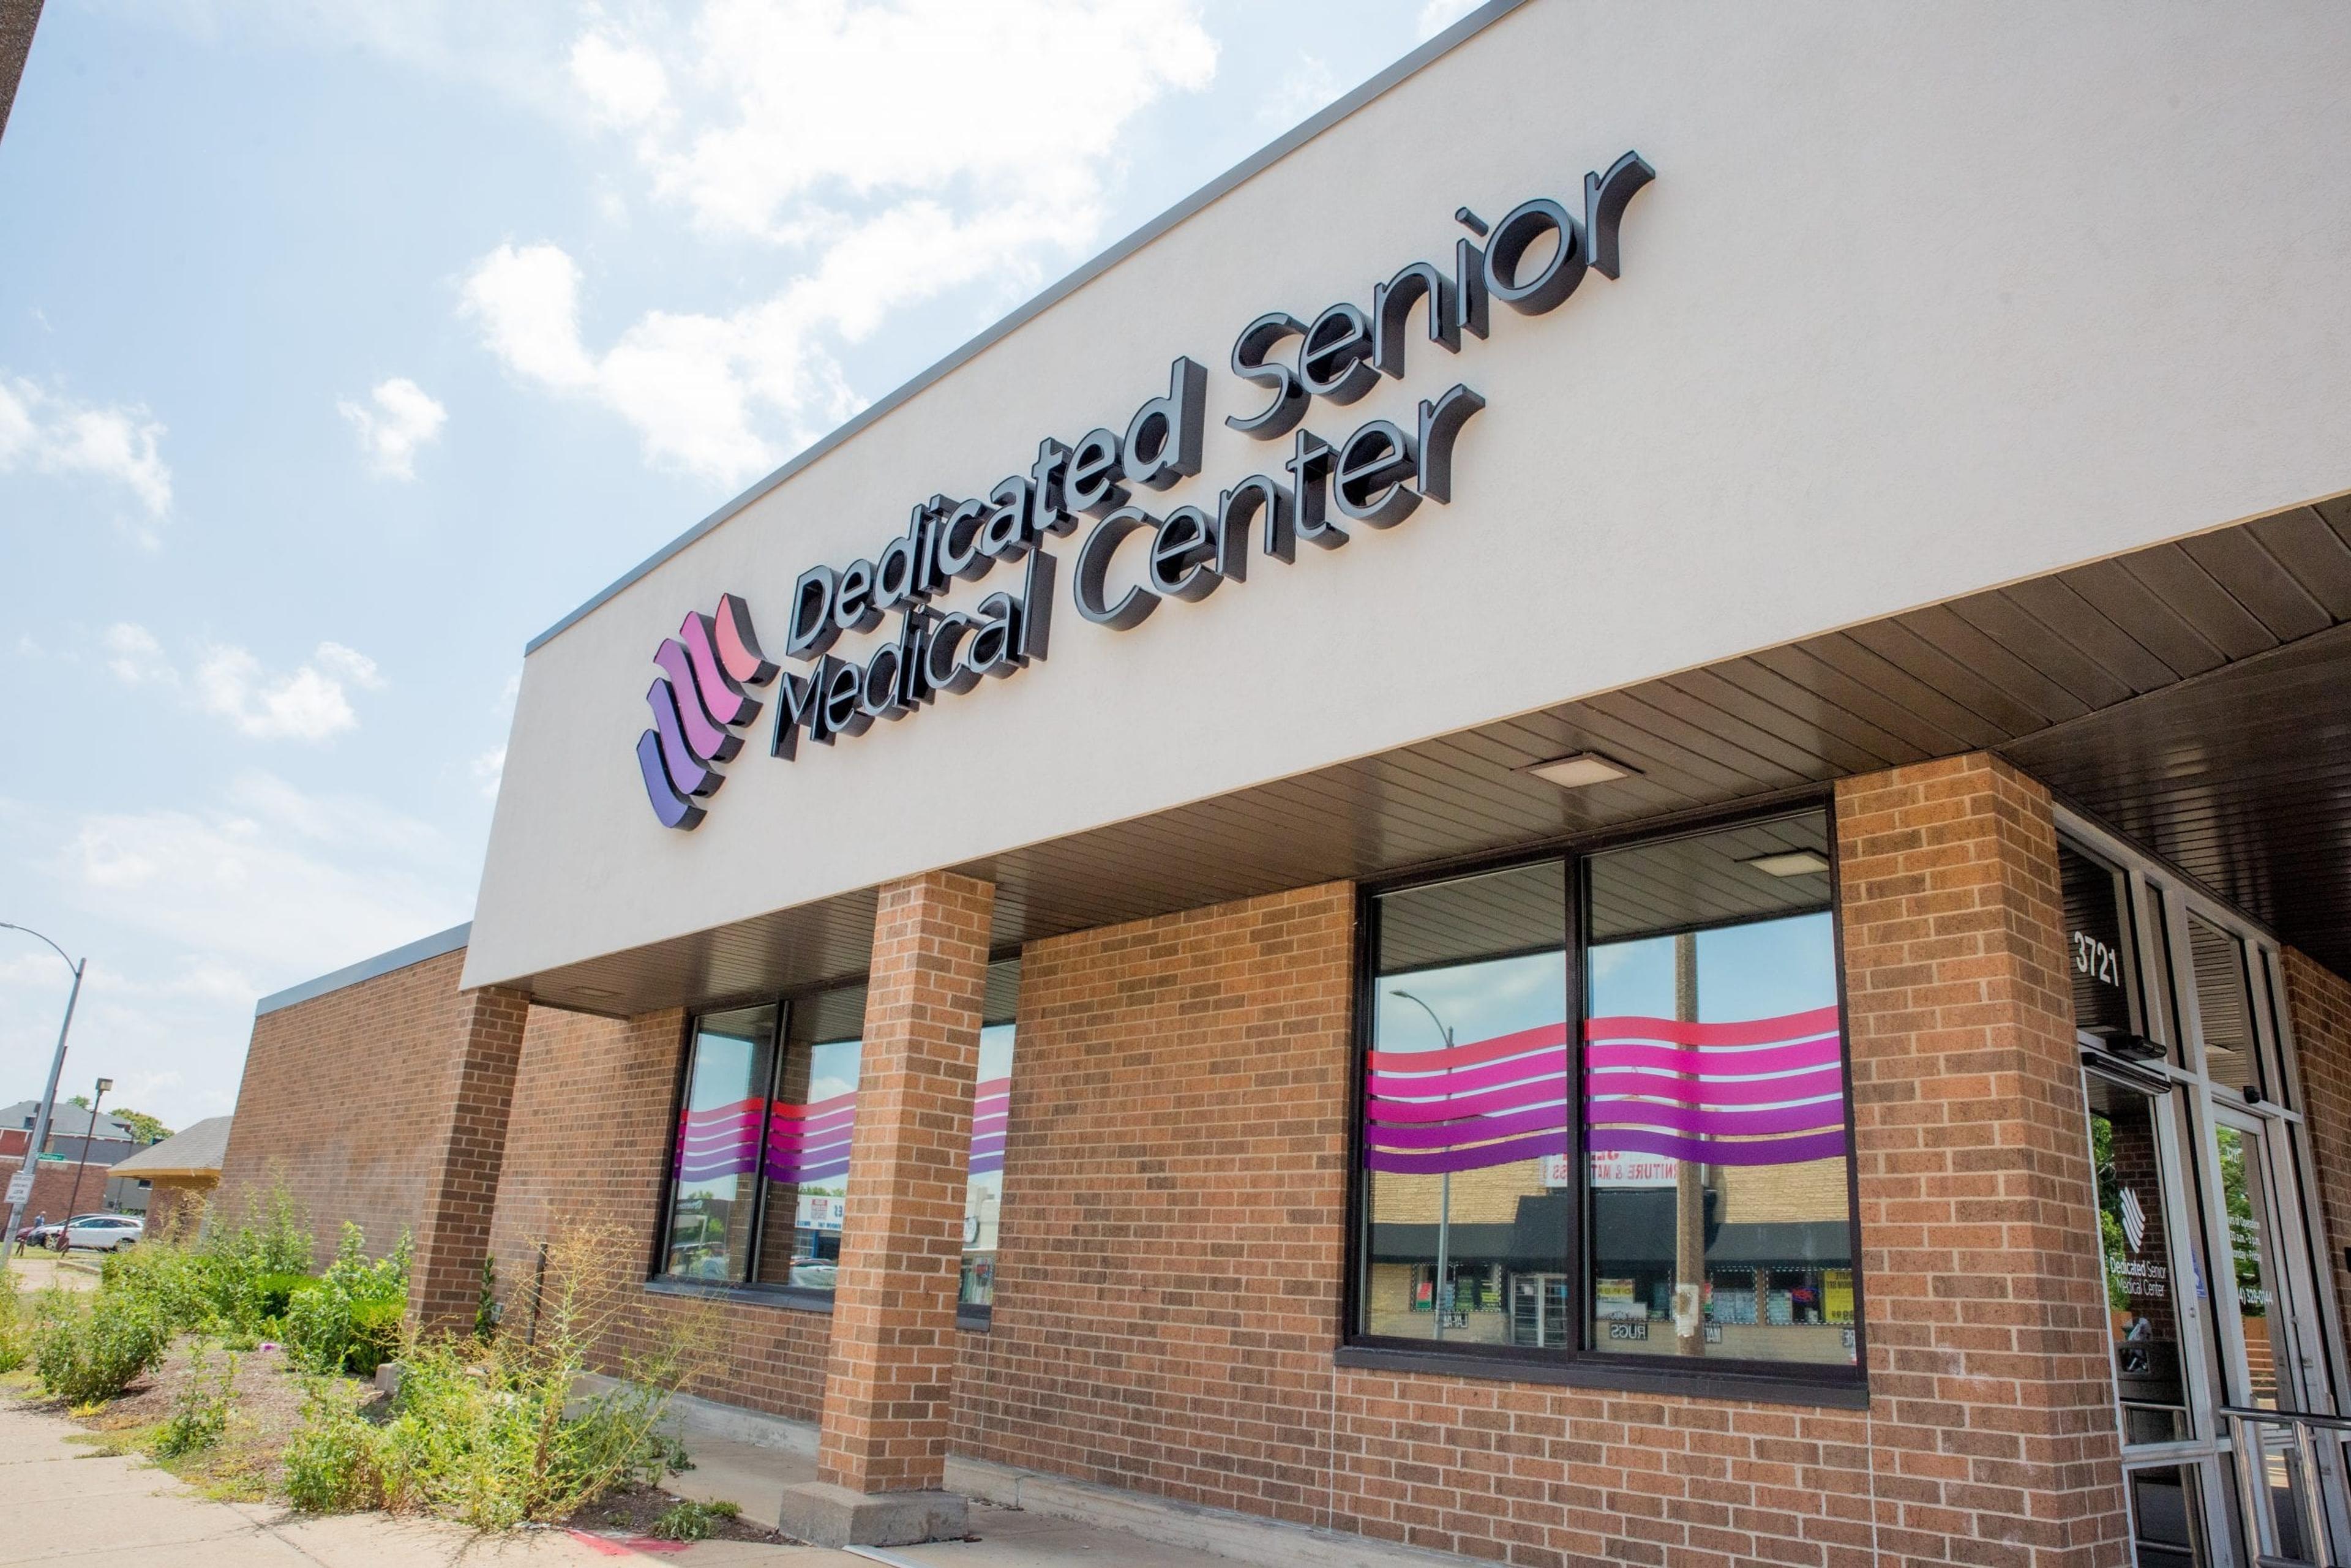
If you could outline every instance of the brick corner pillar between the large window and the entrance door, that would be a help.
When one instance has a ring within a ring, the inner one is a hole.
[[[1836,785],[1888,1563],[2128,1561],[2048,790],[1954,757]]]

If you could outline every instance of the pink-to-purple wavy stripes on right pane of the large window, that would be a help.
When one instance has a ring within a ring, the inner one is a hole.
[[[1834,1006],[1742,1023],[1594,1018],[1585,1025],[1594,1150],[1709,1166],[1789,1166],[1846,1152]]]

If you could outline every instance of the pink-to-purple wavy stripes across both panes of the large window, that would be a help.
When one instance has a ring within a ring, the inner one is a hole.
[[[1744,1023],[1585,1023],[1585,1145],[1709,1166],[1846,1152],[1836,1009]],[[1568,1154],[1568,1030],[1373,1051],[1364,1164],[1436,1175]]]

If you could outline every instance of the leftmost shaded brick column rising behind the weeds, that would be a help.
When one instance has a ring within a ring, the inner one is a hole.
[[[505,1117],[529,1018],[527,992],[498,985],[458,992],[447,1091],[440,1100],[447,1105],[447,1121],[435,1133],[416,1265],[409,1272],[409,1321],[423,1331],[473,1328],[482,1298],[482,1258],[489,1255],[489,1220],[498,1204],[498,1168],[505,1161]]]

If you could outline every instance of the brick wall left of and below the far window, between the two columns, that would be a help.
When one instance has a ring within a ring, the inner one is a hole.
[[[621,1023],[531,1009],[491,1227],[508,1321],[529,1314],[538,1244],[564,1222],[609,1227],[625,1253],[616,1267],[647,1274],[682,1051],[684,1016],[675,1011]],[[816,1420],[830,1328],[823,1312],[637,1293],[607,1342],[607,1366],[663,1335],[703,1333],[719,1354],[696,1394]]]

